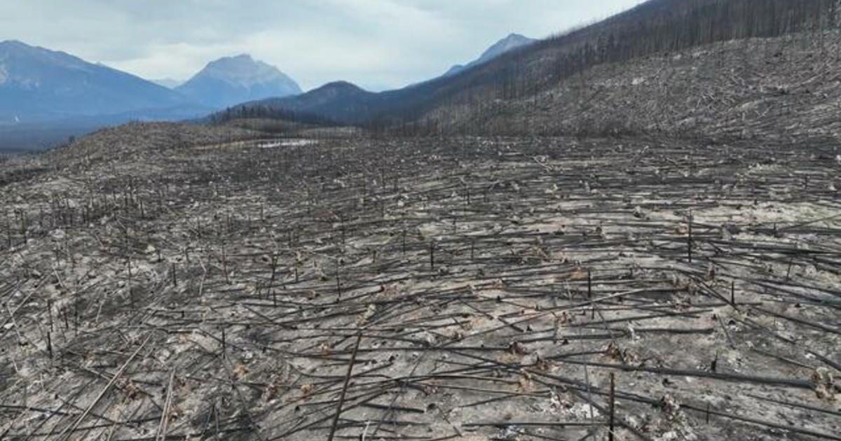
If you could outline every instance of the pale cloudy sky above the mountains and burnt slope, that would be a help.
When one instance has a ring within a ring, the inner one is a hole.
[[[0,41],[62,50],[147,79],[187,80],[250,54],[304,90],[403,87],[511,33],[545,38],[641,0],[0,0]]]

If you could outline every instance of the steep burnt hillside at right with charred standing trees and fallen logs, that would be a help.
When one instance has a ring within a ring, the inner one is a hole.
[[[473,86],[437,102],[416,127],[727,137],[837,133],[826,116],[836,99],[839,12],[828,0],[652,0],[474,70]]]

